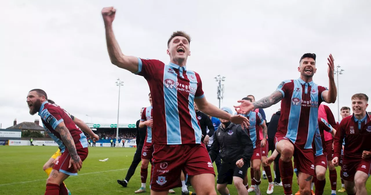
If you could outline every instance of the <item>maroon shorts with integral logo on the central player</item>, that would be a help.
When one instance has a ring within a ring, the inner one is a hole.
[[[188,176],[203,173],[215,176],[214,166],[205,144],[153,144],[153,148],[150,184],[153,191],[161,192],[181,187],[181,170]]]

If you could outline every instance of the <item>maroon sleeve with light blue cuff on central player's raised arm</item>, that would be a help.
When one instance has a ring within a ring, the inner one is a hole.
[[[151,79],[156,72],[164,69],[164,65],[163,62],[156,59],[138,58],[138,71],[134,74]]]

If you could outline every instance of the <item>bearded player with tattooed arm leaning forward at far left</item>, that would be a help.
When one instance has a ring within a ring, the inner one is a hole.
[[[70,175],[77,175],[81,169],[82,161],[88,156],[88,140],[65,110],[47,101],[45,91],[31,90],[27,95],[27,104],[30,114],[39,113],[47,133],[52,133],[66,148],[46,180],[45,195],[68,195],[63,181]]]

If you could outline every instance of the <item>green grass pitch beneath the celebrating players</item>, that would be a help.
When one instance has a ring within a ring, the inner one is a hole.
[[[134,191],[141,186],[140,164],[135,170],[128,187],[123,188],[116,180],[125,178],[131,164],[136,148],[89,147],[89,156],[83,162],[78,176],[70,176],[66,181],[67,188],[72,194],[135,194]],[[45,192],[46,173],[42,170],[44,163],[55,153],[57,147],[53,146],[1,146],[0,147],[0,192],[1,194],[42,195]],[[109,158],[106,162],[99,159]],[[216,166],[214,165],[216,168]],[[271,166],[272,167],[272,166]],[[150,194],[148,169],[147,192]],[[337,167],[339,175],[339,167]],[[248,172],[249,173],[249,172]],[[273,170],[272,170],[273,173]],[[294,174],[295,175],[295,174]],[[326,177],[325,195],[331,194],[331,186]],[[293,181],[293,193],[298,191],[296,176]],[[250,173],[249,173],[250,182]],[[266,194],[268,181],[262,179],[260,188]],[[337,189],[341,187],[338,176]],[[230,194],[237,194],[233,185],[228,185]],[[193,190],[191,187],[190,190]],[[371,194],[371,182],[367,182],[368,193]],[[181,194],[181,188],[176,188],[175,194]],[[254,192],[250,194],[255,194]],[[283,195],[283,188],[275,186],[273,194]],[[340,195],[346,193],[337,192]]]

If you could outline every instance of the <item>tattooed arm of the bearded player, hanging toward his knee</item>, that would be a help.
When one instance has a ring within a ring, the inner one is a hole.
[[[55,127],[55,131],[60,134],[63,144],[65,144],[66,148],[68,149],[68,153],[71,155],[70,166],[72,164],[75,170],[80,170],[82,161],[80,156],[77,154],[75,142],[73,141],[69,130],[65,126],[65,123],[63,121],[60,122],[58,126]]]

